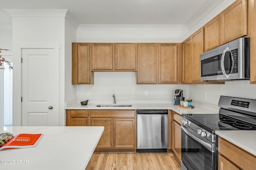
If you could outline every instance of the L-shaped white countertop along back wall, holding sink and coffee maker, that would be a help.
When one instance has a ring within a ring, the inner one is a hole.
[[[131,107],[96,107],[97,104],[69,104],[66,109],[171,109],[180,115],[184,114],[218,114],[218,112],[195,106],[193,109],[180,108],[174,104],[132,104]],[[126,105],[126,104],[122,104]]]

